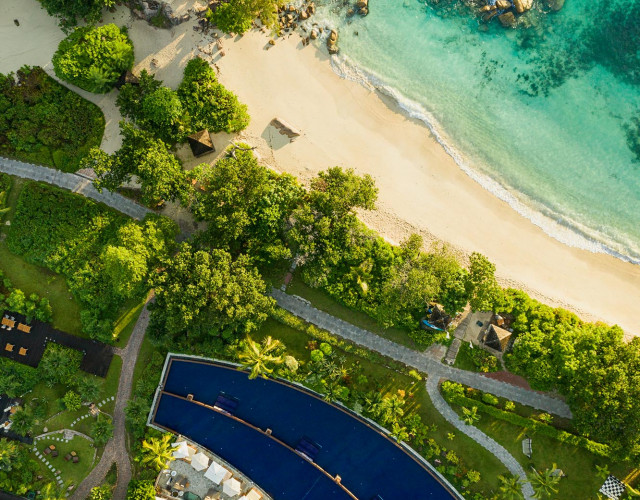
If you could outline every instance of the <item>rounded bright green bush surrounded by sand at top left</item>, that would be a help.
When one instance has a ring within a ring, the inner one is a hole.
[[[133,45],[126,29],[115,24],[76,28],[53,55],[58,78],[89,92],[111,90],[133,66]]]

